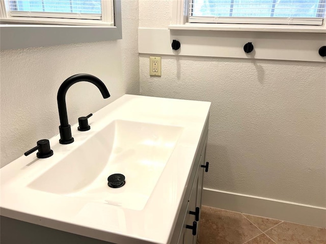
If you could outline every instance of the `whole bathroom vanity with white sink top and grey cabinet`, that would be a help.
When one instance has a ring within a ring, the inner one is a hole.
[[[1,243],[196,243],[209,102],[124,95],[0,170]],[[92,112],[92,111],[90,111]],[[28,148],[26,148],[28,149]],[[121,188],[107,186],[114,173]]]

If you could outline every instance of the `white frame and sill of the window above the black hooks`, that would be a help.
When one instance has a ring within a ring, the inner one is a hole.
[[[238,24],[238,23],[188,23],[189,0],[173,1],[172,21],[169,29],[193,31],[250,31],[250,32],[297,32],[326,33],[326,19],[322,25],[285,24]]]

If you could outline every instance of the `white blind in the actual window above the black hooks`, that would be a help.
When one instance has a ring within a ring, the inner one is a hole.
[[[189,23],[321,25],[326,0],[189,0]]]

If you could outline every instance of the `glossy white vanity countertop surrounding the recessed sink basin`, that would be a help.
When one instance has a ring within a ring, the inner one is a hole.
[[[59,135],[52,137],[52,157],[37,159],[34,153],[3,167],[0,170],[1,215],[118,244],[170,243],[209,107],[209,102],[124,95],[94,113],[89,119],[91,130],[87,134],[77,131],[77,124],[73,125],[73,143],[61,145]],[[69,151],[116,119],[184,128],[142,210],[28,187],[40,172],[55,165],[58,159],[66,157]]]

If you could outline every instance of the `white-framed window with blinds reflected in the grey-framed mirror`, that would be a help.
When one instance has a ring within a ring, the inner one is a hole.
[[[0,0],[2,21],[114,25],[112,0]]]

